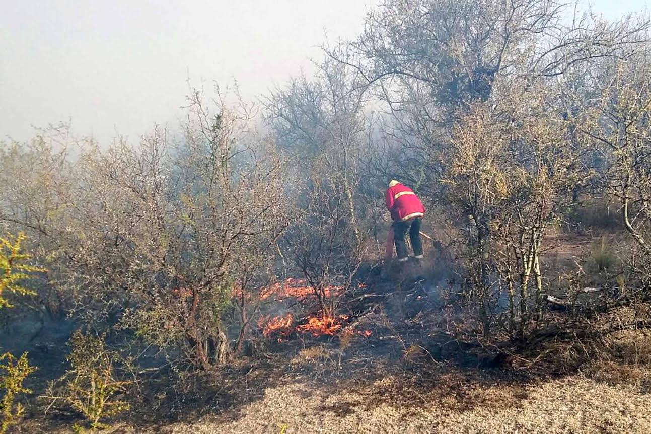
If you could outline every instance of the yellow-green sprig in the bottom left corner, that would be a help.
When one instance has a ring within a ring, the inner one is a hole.
[[[0,364],[0,371],[2,371],[0,373],[0,390],[4,394],[0,400],[0,433],[5,433],[8,427],[15,425],[23,416],[25,409],[20,403],[14,405],[14,400],[18,394],[32,392],[23,387],[23,380],[36,368],[29,365],[27,353],[23,353],[18,360],[10,353],[5,353],[0,356],[0,362],[4,362]]]

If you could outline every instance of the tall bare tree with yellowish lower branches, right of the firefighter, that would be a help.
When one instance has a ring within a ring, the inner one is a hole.
[[[484,332],[502,283],[511,329],[516,304],[520,332],[540,318],[542,240],[568,189],[575,199],[575,185],[590,176],[578,139],[594,88],[590,71],[646,49],[646,17],[567,20],[569,7],[389,1],[368,14],[347,46],[352,56],[329,53],[361,75],[391,115],[385,133],[395,167],[456,221]]]

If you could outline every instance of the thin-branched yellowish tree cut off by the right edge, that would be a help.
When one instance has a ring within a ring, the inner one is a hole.
[[[585,111],[583,139],[600,150],[607,193],[620,204],[622,225],[637,245],[628,263],[648,279],[651,253],[648,233],[651,200],[651,80],[646,55],[600,70],[594,83],[599,98]]]

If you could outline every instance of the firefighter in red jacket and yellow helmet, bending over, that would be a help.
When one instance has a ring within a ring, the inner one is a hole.
[[[425,215],[425,208],[421,201],[409,187],[396,180],[389,182],[385,199],[387,210],[393,219],[391,228],[393,229],[398,261],[405,262],[408,259],[405,242],[407,231],[409,231],[414,257],[422,259],[421,219]]]

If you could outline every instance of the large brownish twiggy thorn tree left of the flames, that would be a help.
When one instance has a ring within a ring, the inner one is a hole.
[[[264,282],[291,213],[283,164],[250,114],[220,102],[213,113],[201,92],[189,103],[176,142],[155,128],[138,146],[79,150],[64,206],[44,205],[57,217],[43,231],[54,228],[57,243],[44,254],[61,263],[55,282],[74,299],[77,318],[128,327],[161,349],[180,349],[177,366],[209,370],[227,360],[231,328],[241,349],[245,306],[240,324],[223,323],[222,314],[237,288],[253,292]],[[49,193],[33,195],[43,202]],[[29,217],[32,202],[7,201]]]

